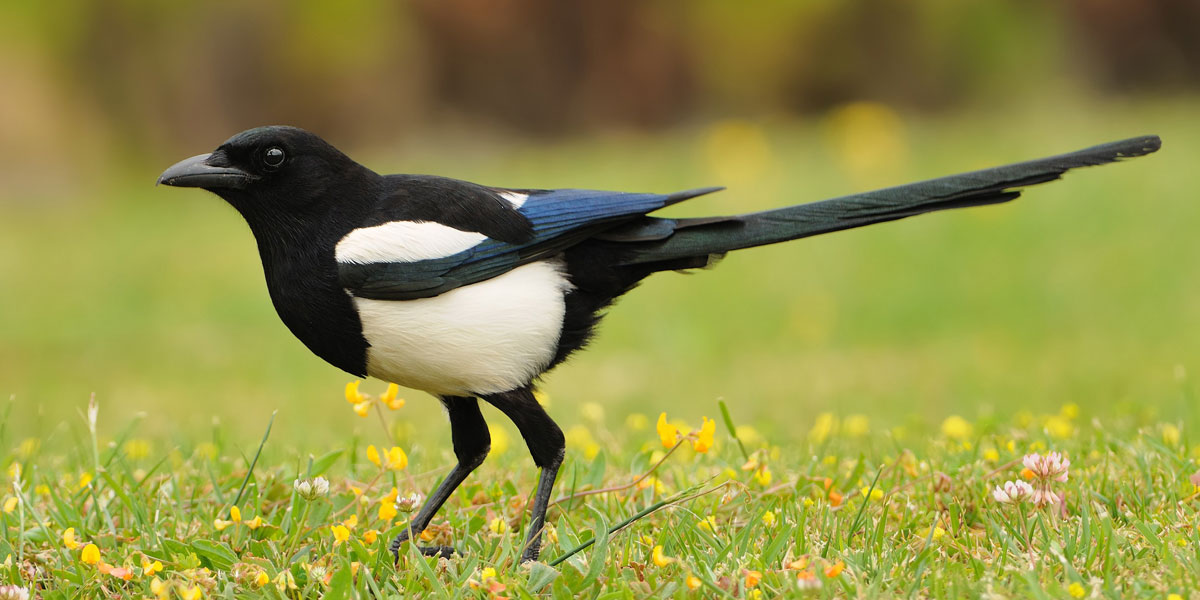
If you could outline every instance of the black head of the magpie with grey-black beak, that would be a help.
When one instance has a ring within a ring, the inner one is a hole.
[[[314,133],[270,126],[244,131],[211,154],[175,163],[158,182],[208,190],[253,221],[320,208],[331,200],[326,191],[361,187],[372,175]]]

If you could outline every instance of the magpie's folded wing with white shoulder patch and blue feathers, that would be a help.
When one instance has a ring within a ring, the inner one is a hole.
[[[415,300],[503,275],[666,205],[714,192],[499,190],[443,178],[397,181],[377,223],[337,245],[356,298]]]

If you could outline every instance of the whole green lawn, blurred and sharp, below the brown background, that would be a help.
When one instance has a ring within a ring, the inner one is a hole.
[[[516,187],[730,185],[673,209],[704,214],[1164,137],[1156,156],[1073,173],[1012,205],[648,281],[545,384],[570,439],[558,493],[629,488],[552,509],[547,562],[598,541],[532,570],[514,557],[536,473],[491,410],[493,456],[434,521],[462,557],[408,553],[392,570],[383,548],[404,517],[380,520],[379,506],[392,488],[427,493],[452,462],[448,428],[430,425],[444,422],[437,403],[412,392],[397,412],[355,416],[341,400],[347,376],[275,317],[236,216],[199,193],[131,182],[174,157],[86,198],[2,199],[0,383],[13,401],[0,432],[0,560],[11,554],[0,582],[35,582],[42,598],[160,595],[155,577],[168,598],[271,598],[281,574],[296,584],[289,598],[486,596],[497,584],[512,598],[1186,596],[1200,572],[1188,479],[1200,457],[1188,378],[1200,372],[1193,115],[1193,101],[1085,103],[910,116],[887,137],[842,131],[844,114],[553,148],[354,152],[380,170]],[[691,425],[683,431],[714,418],[715,448],[683,442],[655,468],[667,452],[660,410]],[[407,468],[373,464],[368,445],[403,449]],[[1021,456],[1048,450],[1073,462],[1060,508],[991,499],[1020,478]],[[328,496],[293,492],[317,475]],[[235,503],[241,522],[217,530]],[[352,515],[336,542],[331,527]],[[101,563],[82,562],[67,528]],[[162,570],[144,575],[143,557]],[[802,572],[820,588],[802,589]]]

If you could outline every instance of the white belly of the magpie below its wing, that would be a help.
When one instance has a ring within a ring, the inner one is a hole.
[[[554,358],[570,288],[547,260],[434,298],[355,298],[367,373],[434,395],[520,388]]]

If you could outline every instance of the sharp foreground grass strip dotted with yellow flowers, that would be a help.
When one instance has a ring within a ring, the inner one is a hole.
[[[697,452],[695,434],[667,448],[646,415],[613,424],[588,412],[571,436],[545,562],[532,566],[515,559],[535,473],[503,440],[431,528],[430,541],[462,556],[407,547],[394,568],[388,541],[404,515],[380,510],[397,493],[427,492],[444,469],[416,467],[449,463],[449,452],[389,469],[366,458],[368,439],[298,461],[268,436],[257,449],[220,430],[163,448],[136,437],[136,422],[92,434],[77,421],[8,457],[20,467],[7,479],[20,485],[0,515],[0,577],[44,586],[46,599],[1164,598],[1200,583],[1200,487],[1188,480],[1200,445],[1177,424],[1088,421],[1073,404],[932,431],[826,414],[786,440],[748,426],[734,438],[722,425]],[[1061,504],[992,498],[1021,479],[1024,454],[1049,450],[1072,460],[1069,480],[1054,484]],[[331,479],[328,494],[295,492],[298,478],[318,475]],[[94,564],[86,544],[98,548]]]

